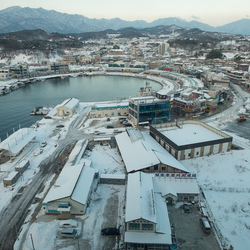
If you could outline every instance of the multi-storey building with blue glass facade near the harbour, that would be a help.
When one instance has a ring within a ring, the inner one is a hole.
[[[129,119],[136,125],[169,120],[170,101],[153,96],[129,98]]]

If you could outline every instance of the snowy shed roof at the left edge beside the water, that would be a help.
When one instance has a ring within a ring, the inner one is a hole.
[[[18,154],[36,135],[37,131],[34,129],[21,128],[1,142],[0,149]]]

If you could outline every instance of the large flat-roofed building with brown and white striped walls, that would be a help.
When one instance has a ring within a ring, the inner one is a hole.
[[[200,121],[150,126],[150,135],[177,160],[230,151],[233,138]]]

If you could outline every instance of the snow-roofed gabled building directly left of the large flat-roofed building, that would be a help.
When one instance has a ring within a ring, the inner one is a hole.
[[[148,133],[128,129],[115,136],[126,172],[188,173],[189,171]],[[135,153],[136,152],[136,153]]]

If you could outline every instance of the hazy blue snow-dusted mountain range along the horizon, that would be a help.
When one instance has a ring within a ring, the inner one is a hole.
[[[48,33],[68,34],[98,32],[108,29],[119,30],[128,27],[145,29],[175,25],[189,29],[198,28],[209,32],[250,35],[250,19],[241,19],[223,26],[213,27],[198,21],[187,22],[176,17],[161,18],[148,23],[143,20],[125,21],[120,18],[90,19],[83,15],[60,13],[43,8],[13,6],[0,11],[0,20],[0,33],[41,29]]]

